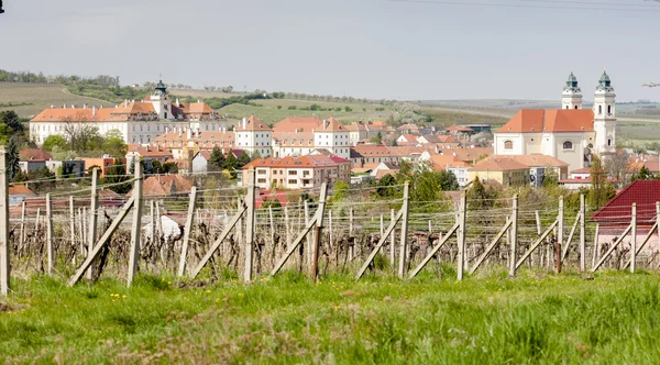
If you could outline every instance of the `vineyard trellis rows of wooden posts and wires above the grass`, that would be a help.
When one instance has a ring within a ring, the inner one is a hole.
[[[1,172],[6,155],[0,147]],[[570,209],[563,198],[549,208],[520,206],[517,196],[483,209],[464,193],[458,204],[410,201],[408,184],[394,187],[404,190],[400,199],[372,200],[365,197],[369,189],[356,188],[350,193],[362,198],[337,200],[330,199],[337,191],[323,184],[312,191],[318,201],[257,209],[253,170],[250,176],[246,188],[194,187],[148,196],[136,164],[125,201],[101,199],[99,191],[108,186],[98,184],[95,172],[89,188],[28,198],[10,209],[7,174],[0,174],[0,294],[8,294],[10,274],[59,275],[72,286],[103,274],[130,286],[138,270],[188,278],[207,273],[249,283],[254,275],[274,276],[282,269],[308,270],[312,279],[331,270],[356,270],[356,279],[369,270],[413,278],[429,267],[441,275],[441,264],[451,264],[462,280],[465,274],[502,265],[510,276],[522,266],[586,272],[590,256],[592,272],[604,265],[635,272],[639,264],[658,262],[657,250],[642,251],[658,223],[638,242],[635,204],[620,215],[629,224],[608,243],[598,242],[598,225],[586,220],[593,208],[584,197]]]

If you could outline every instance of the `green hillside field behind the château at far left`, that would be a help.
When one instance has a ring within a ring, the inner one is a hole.
[[[62,85],[0,82],[0,111],[14,110],[23,118],[36,115],[52,104],[82,107],[84,103],[111,107],[105,101],[70,95]]]

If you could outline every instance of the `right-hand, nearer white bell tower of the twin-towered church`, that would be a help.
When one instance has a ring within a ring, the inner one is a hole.
[[[616,148],[615,98],[609,76],[604,71],[594,95],[594,150],[597,154],[614,152]]]

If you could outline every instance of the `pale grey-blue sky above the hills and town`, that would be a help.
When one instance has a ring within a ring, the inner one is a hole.
[[[399,100],[559,100],[571,71],[592,100],[606,69],[660,100],[660,2],[410,1],[4,0],[0,68]]]

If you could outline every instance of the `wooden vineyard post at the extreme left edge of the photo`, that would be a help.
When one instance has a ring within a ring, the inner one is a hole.
[[[0,146],[0,296],[9,294],[9,172],[7,147]]]

